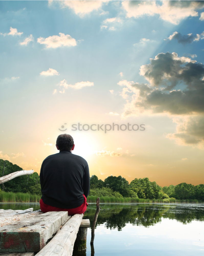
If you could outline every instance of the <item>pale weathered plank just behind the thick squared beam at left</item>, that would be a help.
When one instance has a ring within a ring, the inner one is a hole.
[[[17,214],[14,216],[3,217],[3,218],[0,218],[0,226],[2,227],[4,225],[12,224],[16,221],[35,217],[36,215],[40,215],[40,214],[42,214],[41,210],[37,210],[37,211],[33,211],[33,212],[28,212],[25,214],[20,214],[20,215]],[[1,217],[1,215],[0,215],[0,217]]]

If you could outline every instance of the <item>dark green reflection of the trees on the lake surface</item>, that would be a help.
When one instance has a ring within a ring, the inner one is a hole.
[[[183,224],[192,220],[204,220],[204,204],[101,204],[97,225],[121,231],[126,223],[149,227],[162,221],[162,218],[175,219]],[[92,223],[95,205],[89,204],[84,218]]]

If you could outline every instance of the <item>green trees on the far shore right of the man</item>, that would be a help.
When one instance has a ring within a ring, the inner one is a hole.
[[[96,175],[90,178],[90,196],[130,197],[143,199],[163,199],[170,202],[171,199],[195,199],[204,201],[204,184],[194,186],[192,184],[180,183],[176,186],[170,185],[160,187],[156,182],[148,178],[135,178],[128,183],[122,176],[109,176],[104,181]]]

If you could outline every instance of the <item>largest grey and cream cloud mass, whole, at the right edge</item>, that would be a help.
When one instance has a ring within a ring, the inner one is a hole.
[[[125,99],[122,118],[140,114],[168,115],[176,132],[167,135],[179,145],[204,145],[204,65],[177,53],[159,53],[142,65],[148,83],[121,80]],[[181,88],[181,89],[178,89]],[[204,147],[203,147],[204,148]]]

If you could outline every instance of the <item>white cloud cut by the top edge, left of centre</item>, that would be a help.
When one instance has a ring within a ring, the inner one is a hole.
[[[49,5],[56,1],[49,1]],[[58,2],[58,1],[57,1]],[[87,14],[90,14],[94,10],[101,9],[103,3],[108,3],[109,1],[59,1],[61,8],[70,8],[74,11],[75,14],[80,17],[84,17]]]

